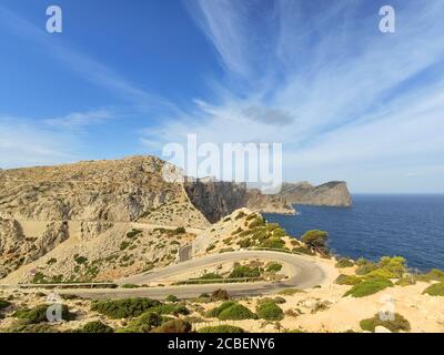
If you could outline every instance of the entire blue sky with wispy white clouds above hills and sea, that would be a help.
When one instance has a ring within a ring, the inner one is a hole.
[[[282,142],[287,181],[443,193],[443,18],[441,0],[2,0],[0,166],[159,155],[196,133]]]

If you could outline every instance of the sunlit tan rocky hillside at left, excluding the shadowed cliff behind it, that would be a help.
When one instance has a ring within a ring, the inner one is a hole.
[[[163,165],[157,158],[134,156],[2,171],[0,277],[43,256],[48,256],[42,258],[44,263],[51,260],[51,265],[33,264],[41,268],[41,274],[48,270],[50,280],[56,276],[63,281],[105,278],[93,267],[99,262],[103,268],[118,265],[123,273],[124,266],[140,256],[122,247],[129,244],[125,235],[135,222],[150,229],[140,233],[140,240],[151,241],[150,245],[140,242],[140,252],[145,250],[145,257],[139,257],[142,264],[159,262],[162,257],[165,263],[172,262],[180,243],[159,252],[157,246],[162,239],[170,236],[168,245],[172,242],[171,232],[162,229],[204,229],[210,223],[192,205],[183,185],[164,181]],[[94,242],[98,239],[101,243]],[[75,254],[94,262],[93,266],[89,265],[93,272],[84,275],[83,265],[74,262]],[[154,257],[154,254],[158,255]],[[115,265],[102,261],[107,257],[114,257]],[[119,261],[120,257],[124,261]],[[24,267],[26,272],[29,268]]]

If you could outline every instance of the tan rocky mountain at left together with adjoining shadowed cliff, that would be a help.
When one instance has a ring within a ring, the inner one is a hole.
[[[132,156],[0,171],[0,278],[112,280],[168,265],[240,207],[294,212],[243,184],[165,181],[165,164]]]

